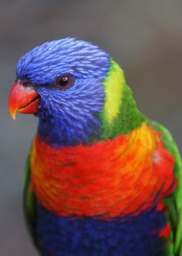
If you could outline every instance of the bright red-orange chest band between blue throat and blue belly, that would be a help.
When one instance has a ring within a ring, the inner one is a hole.
[[[59,216],[137,215],[172,193],[174,158],[145,123],[127,135],[89,146],[51,148],[36,136],[32,187]]]

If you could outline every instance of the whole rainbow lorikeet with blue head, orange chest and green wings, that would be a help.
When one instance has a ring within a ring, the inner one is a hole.
[[[39,120],[23,203],[40,255],[182,255],[181,157],[112,57],[54,40],[21,57],[16,75],[12,117]]]

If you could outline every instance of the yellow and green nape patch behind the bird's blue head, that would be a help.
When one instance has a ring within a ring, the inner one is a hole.
[[[99,114],[99,119],[102,121],[101,140],[125,135],[139,127],[146,118],[136,107],[133,93],[125,82],[122,69],[112,59],[103,86],[105,105]]]

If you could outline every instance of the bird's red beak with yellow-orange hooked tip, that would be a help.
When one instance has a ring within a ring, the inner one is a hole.
[[[14,84],[8,100],[10,115],[14,120],[16,112],[36,114],[39,103],[38,93],[31,86],[23,86],[19,80]]]

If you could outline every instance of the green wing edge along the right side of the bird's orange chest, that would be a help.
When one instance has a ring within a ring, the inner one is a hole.
[[[172,232],[174,237],[174,251],[175,256],[182,256],[182,162],[179,150],[172,138],[172,135],[161,124],[148,120],[148,125],[153,127],[155,131],[162,133],[162,141],[166,150],[168,150],[175,159],[174,172],[177,176],[178,185],[174,193],[165,200],[169,208],[169,219],[172,225]]]

